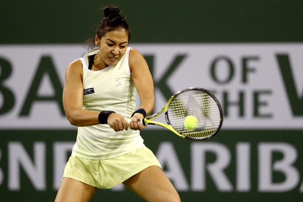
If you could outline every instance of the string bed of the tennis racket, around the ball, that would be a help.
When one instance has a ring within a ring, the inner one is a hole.
[[[204,91],[190,90],[176,95],[170,103],[167,113],[172,127],[189,138],[208,138],[220,127],[221,115],[218,105]],[[197,126],[193,130],[184,127],[184,119],[190,115],[198,120]]]

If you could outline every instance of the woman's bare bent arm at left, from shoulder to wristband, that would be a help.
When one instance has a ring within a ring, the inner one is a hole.
[[[69,64],[65,73],[65,85],[63,89],[63,106],[69,122],[74,126],[91,126],[100,124],[98,115],[100,112],[92,112],[82,109],[83,104],[83,70],[80,60]]]

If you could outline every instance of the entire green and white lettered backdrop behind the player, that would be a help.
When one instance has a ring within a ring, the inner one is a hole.
[[[156,110],[192,85],[223,104],[209,140],[142,131],[182,201],[301,201],[303,2],[288,0],[0,1],[0,201],[54,201],[76,139],[60,102],[65,69],[108,5],[153,73]],[[92,201],[142,199],[118,185]]]

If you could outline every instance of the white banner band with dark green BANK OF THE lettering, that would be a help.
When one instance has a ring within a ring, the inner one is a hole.
[[[130,46],[151,61],[155,111],[172,93],[202,87],[220,100],[223,129],[303,129],[303,43]],[[0,45],[0,127],[75,128],[62,89],[66,67],[85,52],[77,44]]]

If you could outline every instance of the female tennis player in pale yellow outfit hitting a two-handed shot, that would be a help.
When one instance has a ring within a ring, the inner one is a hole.
[[[95,48],[66,70],[63,105],[78,134],[55,201],[89,201],[98,188],[120,183],[147,201],[180,201],[140,136],[146,126],[139,121],[155,103],[148,66],[128,47],[130,29],[119,8],[107,7],[104,14]]]

